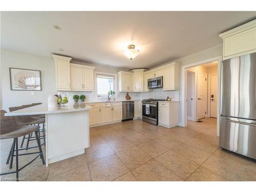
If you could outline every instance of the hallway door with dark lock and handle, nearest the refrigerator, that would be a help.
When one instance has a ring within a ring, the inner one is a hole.
[[[210,117],[217,118],[218,75],[210,76]]]

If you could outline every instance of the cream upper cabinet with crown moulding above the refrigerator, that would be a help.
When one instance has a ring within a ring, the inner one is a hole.
[[[256,52],[256,20],[219,36],[223,39],[223,60]]]

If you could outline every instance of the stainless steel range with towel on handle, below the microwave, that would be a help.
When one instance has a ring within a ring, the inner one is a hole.
[[[158,101],[164,101],[164,99],[142,100],[142,121],[158,125]]]

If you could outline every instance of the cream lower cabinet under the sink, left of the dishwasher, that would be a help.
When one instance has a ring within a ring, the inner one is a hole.
[[[105,106],[105,103],[88,104],[92,106],[92,109],[89,111],[90,127],[121,122],[122,102],[112,102],[111,106]]]

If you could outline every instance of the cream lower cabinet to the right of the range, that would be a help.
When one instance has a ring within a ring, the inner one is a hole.
[[[179,123],[179,102],[158,102],[158,124],[167,128]]]

